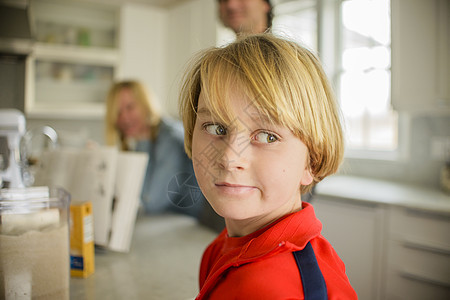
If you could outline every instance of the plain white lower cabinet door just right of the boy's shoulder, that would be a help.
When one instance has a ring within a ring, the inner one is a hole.
[[[377,204],[315,196],[322,234],[346,266],[359,299],[380,299],[384,210]]]

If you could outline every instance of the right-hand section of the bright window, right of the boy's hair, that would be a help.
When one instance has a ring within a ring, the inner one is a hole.
[[[389,2],[342,2],[338,95],[351,149],[397,148],[397,116],[390,105]]]

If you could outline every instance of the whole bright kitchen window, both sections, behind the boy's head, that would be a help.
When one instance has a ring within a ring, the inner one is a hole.
[[[390,0],[279,3],[273,31],[318,49],[322,61],[333,65],[328,75],[344,117],[347,155],[393,153],[398,138],[390,102]],[[319,40],[325,41],[320,47]]]

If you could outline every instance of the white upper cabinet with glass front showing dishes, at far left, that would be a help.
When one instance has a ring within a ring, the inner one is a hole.
[[[26,112],[99,117],[119,69],[117,6],[36,0],[37,43],[28,62]]]

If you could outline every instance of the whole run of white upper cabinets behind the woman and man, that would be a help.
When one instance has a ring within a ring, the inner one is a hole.
[[[37,44],[28,60],[26,112],[35,118],[102,118],[114,80],[136,79],[177,116],[187,61],[215,45],[216,4],[180,1],[34,0]]]

